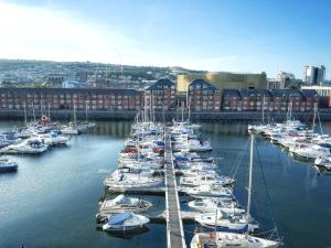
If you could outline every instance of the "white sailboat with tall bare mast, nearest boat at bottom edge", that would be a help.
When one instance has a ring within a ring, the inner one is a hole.
[[[253,172],[253,145],[254,134],[250,136],[250,159],[249,159],[249,177],[248,177],[248,201],[246,212],[246,226],[250,223],[250,198],[252,198],[252,172]],[[217,212],[216,212],[217,215]],[[217,216],[215,217],[217,219]],[[271,240],[266,238],[255,237],[249,234],[249,228],[246,228],[245,234],[236,234],[229,231],[217,231],[215,227],[211,233],[197,233],[191,240],[191,248],[277,248],[281,245],[279,239]]]

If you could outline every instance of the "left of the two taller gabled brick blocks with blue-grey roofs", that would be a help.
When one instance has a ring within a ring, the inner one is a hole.
[[[145,105],[154,110],[171,110],[175,107],[175,85],[173,82],[162,78],[148,87],[145,91]]]

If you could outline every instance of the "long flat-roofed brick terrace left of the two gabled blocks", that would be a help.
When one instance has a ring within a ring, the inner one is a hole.
[[[134,89],[0,88],[2,110],[138,110],[141,94]]]

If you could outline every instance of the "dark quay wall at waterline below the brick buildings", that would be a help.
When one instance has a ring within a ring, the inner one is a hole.
[[[138,111],[136,110],[122,110],[122,111],[99,111],[92,110],[88,112],[88,119],[90,120],[109,120],[109,119],[128,119],[131,120],[136,117]],[[47,115],[47,112],[35,111],[36,119],[42,115]],[[286,112],[266,112],[265,120],[277,120],[281,121],[286,118]],[[54,120],[72,120],[73,111],[70,109],[62,110],[50,110],[50,116]],[[28,120],[33,118],[33,112],[31,110],[26,111]],[[77,110],[76,117],[78,120],[85,120],[85,111]],[[171,119],[181,119],[182,114],[180,111],[156,111],[156,120],[159,121],[169,121]],[[301,121],[312,121],[313,112],[292,112],[292,117]],[[331,121],[331,111],[328,109],[319,109],[319,117],[321,121]],[[188,119],[188,112],[183,115],[184,119]],[[0,111],[1,120],[24,120],[24,112],[22,110],[1,110]],[[191,112],[192,121],[260,121],[261,114],[256,111],[199,111]]]

